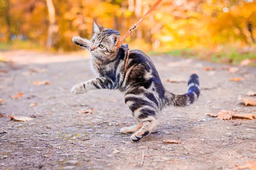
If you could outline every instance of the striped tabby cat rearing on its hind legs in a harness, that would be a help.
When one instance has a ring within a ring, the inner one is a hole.
[[[167,91],[151,59],[140,50],[129,51],[128,45],[117,47],[119,32],[93,24],[91,40],[73,37],[73,42],[92,54],[91,64],[99,77],[72,88],[74,94],[96,89],[119,89],[125,94],[125,104],[131,109],[138,124],[123,127],[121,133],[133,133],[131,140],[139,141],[158,124],[157,114],[166,106],[191,105],[200,94],[197,74],[188,80],[188,92],[183,95]],[[126,65],[127,62],[127,65]]]

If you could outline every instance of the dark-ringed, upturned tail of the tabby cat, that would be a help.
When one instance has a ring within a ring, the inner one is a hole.
[[[189,77],[188,92],[186,94],[172,94],[166,91],[167,105],[184,107],[195,102],[200,95],[199,80],[197,74],[192,74]]]

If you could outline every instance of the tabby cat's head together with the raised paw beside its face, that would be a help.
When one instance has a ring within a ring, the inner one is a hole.
[[[117,43],[119,32],[113,29],[104,28],[98,23],[93,24],[93,37],[91,40],[73,37],[73,42],[88,49],[92,57],[99,60],[112,60],[118,52]]]

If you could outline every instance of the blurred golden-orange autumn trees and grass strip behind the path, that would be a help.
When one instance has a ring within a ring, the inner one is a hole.
[[[0,50],[78,51],[93,20],[124,34],[155,0],[0,0]],[[255,0],[163,0],[125,42],[148,54],[256,58]]]

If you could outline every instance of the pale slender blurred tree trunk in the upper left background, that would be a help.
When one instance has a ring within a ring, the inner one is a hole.
[[[52,3],[52,0],[46,0],[47,9],[49,13],[49,28],[48,28],[48,38],[46,43],[47,51],[52,48],[53,45],[53,34],[54,34],[54,26],[55,26],[55,8]]]

